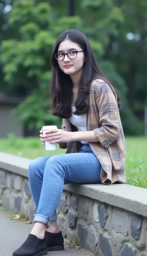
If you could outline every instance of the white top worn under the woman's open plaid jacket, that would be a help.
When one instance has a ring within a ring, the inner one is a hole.
[[[78,131],[86,131],[86,114],[84,115],[74,115],[73,112],[75,112],[76,107],[71,107],[72,108],[72,115],[69,118],[70,122],[77,127]],[[81,141],[82,144],[87,144],[87,141]]]

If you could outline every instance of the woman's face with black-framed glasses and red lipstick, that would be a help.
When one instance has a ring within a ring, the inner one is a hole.
[[[58,59],[63,58],[63,53],[69,52],[69,57],[75,57],[75,51],[82,51],[82,48],[69,39],[65,39],[59,44],[58,47]],[[78,52],[77,57],[74,59],[70,59],[67,55],[65,55],[63,60],[58,60],[58,64],[60,69],[67,75],[73,75],[82,70],[85,57],[84,52]]]

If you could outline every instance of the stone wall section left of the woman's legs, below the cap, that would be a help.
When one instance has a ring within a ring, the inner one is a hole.
[[[36,212],[28,178],[0,170],[0,201],[13,213],[23,213],[33,220]]]

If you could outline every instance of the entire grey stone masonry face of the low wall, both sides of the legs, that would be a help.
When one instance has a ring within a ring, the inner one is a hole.
[[[36,212],[26,177],[0,170],[0,200],[13,213],[30,220]],[[65,238],[98,256],[147,256],[147,218],[64,191],[58,225]]]

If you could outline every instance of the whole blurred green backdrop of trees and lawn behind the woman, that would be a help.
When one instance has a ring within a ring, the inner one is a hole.
[[[19,98],[11,116],[17,126],[27,127],[24,136],[38,135],[43,125],[61,127],[61,120],[49,111],[50,56],[62,31],[78,29],[87,35],[100,69],[121,93],[127,182],[147,187],[146,24],[146,0],[0,0],[1,127],[6,117],[2,106],[10,98],[13,103]],[[17,138],[17,132],[9,134],[9,126],[7,136],[0,135],[7,137],[0,140],[1,151],[30,158],[48,154],[38,144],[39,137]]]

